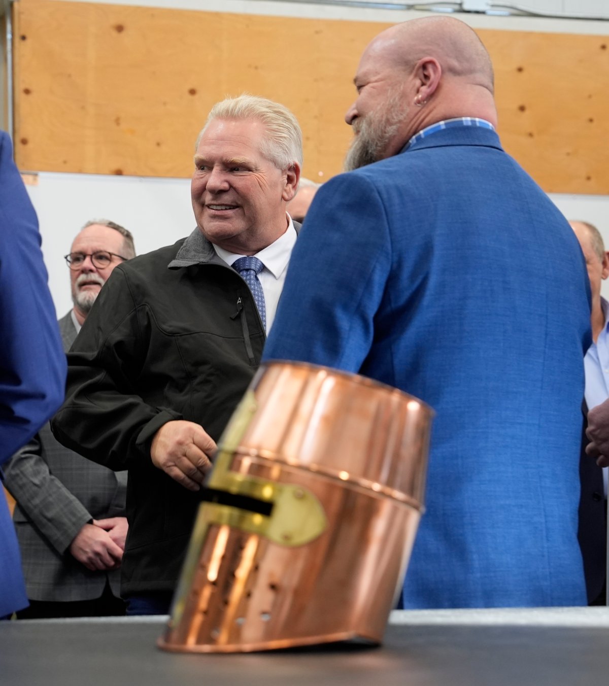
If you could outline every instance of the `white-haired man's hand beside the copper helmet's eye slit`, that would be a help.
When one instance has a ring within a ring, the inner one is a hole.
[[[164,424],[152,439],[152,464],[188,490],[199,490],[211,469],[216,445],[200,425],[175,420]]]

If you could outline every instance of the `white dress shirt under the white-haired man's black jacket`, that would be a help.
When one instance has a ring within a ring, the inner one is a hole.
[[[280,235],[270,246],[267,246],[260,252],[256,252],[256,255],[253,256],[257,257],[264,265],[264,269],[258,274],[258,280],[264,292],[267,335],[275,319],[279,296],[285,283],[289,256],[291,255],[292,248],[294,248],[294,244],[296,244],[296,229],[289,214],[286,213],[286,216],[288,226],[285,233]],[[246,257],[245,255],[235,255],[234,252],[228,252],[228,250],[224,250],[224,248],[220,248],[215,244],[213,244],[213,247],[217,255],[230,266],[239,257]]]

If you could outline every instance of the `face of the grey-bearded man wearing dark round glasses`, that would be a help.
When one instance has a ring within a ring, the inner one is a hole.
[[[70,285],[72,289],[72,302],[77,320],[82,324],[84,318],[93,307],[95,298],[101,287],[108,280],[112,270],[119,265],[122,260],[116,255],[112,256],[112,261],[103,269],[97,268],[91,261],[91,253],[99,250],[114,252],[117,255],[124,255],[124,238],[117,230],[103,226],[102,224],[91,224],[84,228],[75,237],[70,252],[82,252],[89,255],[86,257],[77,270],[70,270]]]

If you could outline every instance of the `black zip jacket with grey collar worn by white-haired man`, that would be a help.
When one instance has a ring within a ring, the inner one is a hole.
[[[153,466],[152,437],[184,419],[217,441],[264,342],[250,289],[198,229],[119,265],[101,289],[52,427],[89,460],[128,469],[121,595],[174,589],[200,497]]]

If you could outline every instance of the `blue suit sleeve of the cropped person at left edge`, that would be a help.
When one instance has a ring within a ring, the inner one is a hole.
[[[62,403],[66,379],[38,220],[0,132],[0,464]]]

